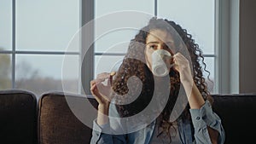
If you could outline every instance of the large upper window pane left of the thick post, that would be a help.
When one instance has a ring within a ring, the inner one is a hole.
[[[22,0],[16,8],[19,50],[63,51],[79,30],[79,0]]]

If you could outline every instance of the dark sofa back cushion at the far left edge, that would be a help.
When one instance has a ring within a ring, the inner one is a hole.
[[[37,142],[37,99],[23,89],[0,91],[0,143]]]

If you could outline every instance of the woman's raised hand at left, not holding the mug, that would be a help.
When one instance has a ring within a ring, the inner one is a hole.
[[[111,101],[110,94],[112,91],[111,84],[115,72],[102,72],[97,75],[97,78],[90,81],[90,92],[96,98],[99,106],[109,106]],[[102,84],[105,81],[107,84]]]

